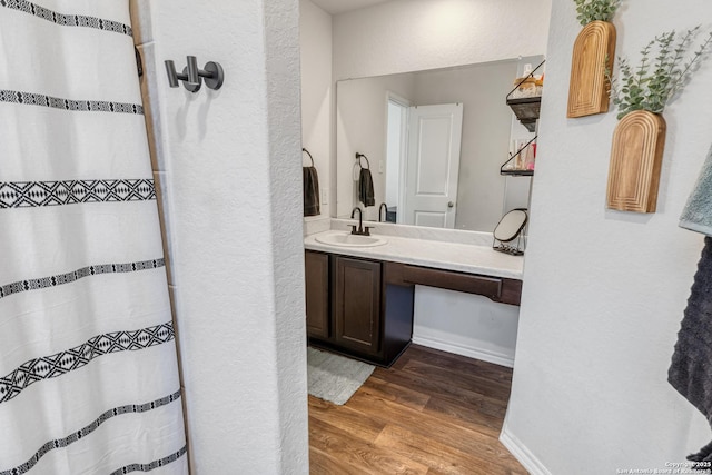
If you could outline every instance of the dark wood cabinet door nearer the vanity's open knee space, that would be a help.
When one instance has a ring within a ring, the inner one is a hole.
[[[380,343],[380,263],[335,257],[334,338],[377,354]]]

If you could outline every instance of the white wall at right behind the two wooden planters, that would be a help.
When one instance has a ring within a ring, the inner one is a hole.
[[[606,210],[615,112],[566,119],[575,4],[554,0],[514,384],[503,439],[554,475],[665,468],[710,441],[666,383],[702,236],[678,228],[712,136],[712,60],[668,121],[657,212]],[[616,56],[712,17],[706,0],[624,2]]]

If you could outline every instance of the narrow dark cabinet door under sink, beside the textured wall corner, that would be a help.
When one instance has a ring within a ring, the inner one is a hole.
[[[307,335],[329,337],[329,256],[309,250],[304,254],[306,277]]]

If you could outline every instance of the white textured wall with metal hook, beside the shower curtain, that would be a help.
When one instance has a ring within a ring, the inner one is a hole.
[[[135,6],[192,473],[307,473],[297,2]],[[222,89],[168,88],[186,55]]]

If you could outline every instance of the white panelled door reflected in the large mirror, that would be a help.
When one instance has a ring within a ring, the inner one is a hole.
[[[411,108],[405,202],[399,222],[454,228],[463,105]]]

